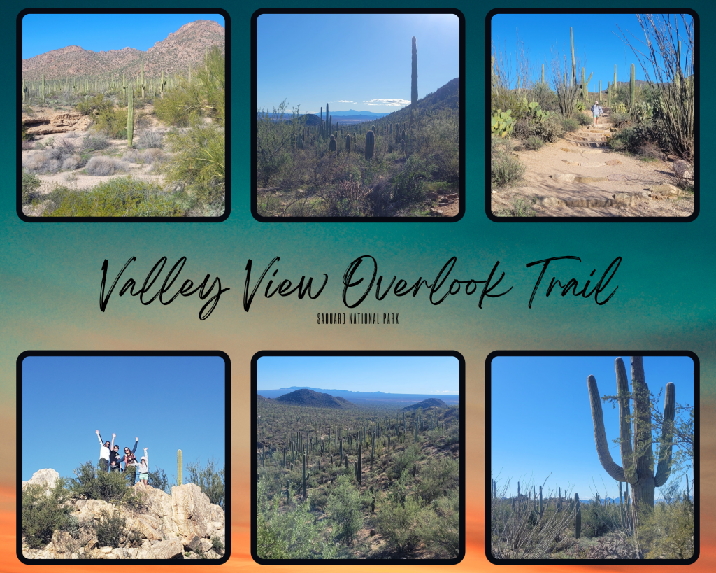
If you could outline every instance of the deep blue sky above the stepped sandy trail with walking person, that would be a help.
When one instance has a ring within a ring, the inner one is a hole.
[[[672,22],[673,22],[672,16]],[[687,15],[687,21],[691,17]],[[584,65],[585,79],[594,72],[589,90],[606,90],[608,82],[614,80],[614,65],[616,64],[616,81],[629,81],[632,64],[637,80],[646,80],[644,71],[637,57],[622,40],[621,31],[626,34],[634,47],[644,51],[644,32],[639,25],[636,14],[496,14],[491,22],[491,41],[498,51],[505,54],[510,62],[512,80],[516,74],[516,49],[518,41],[523,42],[528,53],[534,77],[539,81],[542,64],[544,66],[545,81],[552,84],[552,50],[558,49],[560,62],[566,54],[567,64],[571,67],[571,44],[569,28],[574,33],[574,49],[577,59],[577,76],[581,79],[579,60]],[[548,33],[545,31],[548,30]],[[686,30],[679,16],[679,33]],[[633,35],[632,35],[633,34]],[[682,42],[682,67],[686,66],[686,45]],[[689,64],[691,56],[689,57]],[[654,80],[654,72],[648,67],[649,75]],[[514,83],[512,87],[515,87]]]

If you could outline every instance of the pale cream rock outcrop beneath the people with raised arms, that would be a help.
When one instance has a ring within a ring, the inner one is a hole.
[[[52,489],[59,479],[53,469],[35,472],[22,488],[37,484]],[[226,518],[195,483],[173,486],[165,493],[137,483],[142,507],[131,510],[97,499],[70,499],[71,531],[54,531],[52,541],[40,549],[24,543],[26,559],[221,559],[226,546]],[[97,527],[107,515],[125,519],[117,546],[100,546]],[[75,521],[76,520],[76,521]],[[216,540],[221,544],[216,543]]]

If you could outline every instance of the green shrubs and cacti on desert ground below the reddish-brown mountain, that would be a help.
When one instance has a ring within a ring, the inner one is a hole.
[[[126,80],[30,86],[24,122],[32,125],[33,106],[53,105],[89,116],[91,127],[84,136],[70,132],[34,145],[23,130],[23,149],[34,148],[23,158],[23,205],[41,216],[220,216],[226,203],[225,78],[225,58],[213,47],[189,76],[145,78],[142,67],[136,86]],[[132,164],[151,165],[150,180],[126,175]],[[62,171],[67,184],[42,189],[37,183],[42,178],[36,174]],[[78,190],[74,183],[82,175],[112,177]]]

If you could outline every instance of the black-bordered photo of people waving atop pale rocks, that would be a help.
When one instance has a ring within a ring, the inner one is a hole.
[[[21,562],[228,561],[228,355],[29,350],[16,370]]]

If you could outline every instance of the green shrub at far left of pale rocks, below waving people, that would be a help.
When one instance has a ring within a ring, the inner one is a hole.
[[[69,519],[69,506],[64,506],[67,491],[59,481],[49,489],[32,484],[22,491],[22,534],[29,547],[44,547],[56,529],[64,529]]]

